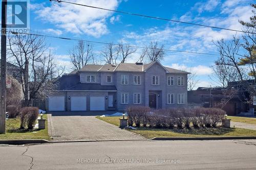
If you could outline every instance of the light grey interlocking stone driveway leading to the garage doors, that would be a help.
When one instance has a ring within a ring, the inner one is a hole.
[[[48,116],[53,140],[143,139],[130,131],[103,122],[95,116]]]

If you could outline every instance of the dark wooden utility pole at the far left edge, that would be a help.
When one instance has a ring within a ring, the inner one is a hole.
[[[5,134],[6,113],[6,9],[7,0],[2,0],[2,28],[1,28],[1,102],[0,102],[0,134]]]

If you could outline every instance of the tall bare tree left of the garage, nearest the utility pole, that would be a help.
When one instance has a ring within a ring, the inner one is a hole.
[[[54,77],[59,76],[63,68],[57,66],[57,62],[48,52],[44,38],[21,34],[9,35],[8,38],[8,54],[19,67],[24,104],[29,106],[32,99],[41,96],[39,91],[42,89],[54,90]],[[48,82],[51,82],[51,86]]]

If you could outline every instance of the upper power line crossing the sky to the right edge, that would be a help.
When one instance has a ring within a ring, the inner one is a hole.
[[[234,30],[234,29],[227,29],[227,28],[221,28],[221,27],[207,26],[207,25],[202,25],[202,24],[199,24],[199,23],[185,22],[185,21],[180,21],[180,20],[167,19],[167,18],[156,17],[156,16],[148,16],[148,15],[137,14],[137,13],[131,13],[131,12],[125,12],[125,11],[117,11],[117,10],[111,10],[111,9],[100,8],[100,7],[95,7],[95,6],[90,6],[90,5],[84,5],[84,4],[78,4],[78,3],[72,3],[72,2],[61,1],[61,0],[50,0],[50,2],[52,2],[52,1],[58,2],[58,3],[67,3],[67,4],[73,4],[73,5],[88,7],[88,8],[100,9],[100,10],[105,10],[105,11],[117,12],[117,13],[122,13],[122,14],[135,15],[135,16],[142,16],[142,17],[146,17],[146,18],[153,18],[153,19],[159,19],[159,20],[165,20],[165,21],[172,21],[172,22],[178,22],[178,23],[185,23],[185,24],[188,24],[188,25],[194,25],[194,26],[200,26],[200,27],[207,27],[207,28],[214,28],[214,29],[220,29],[220,30],[227,30],[227,31],[235,31],[235,32],[256,34],[256,33],[251,33],[251,32],[242,31],[242,30]]]

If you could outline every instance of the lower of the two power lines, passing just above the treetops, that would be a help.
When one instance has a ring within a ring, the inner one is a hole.
[[[64,40],[75,40],[75,41],[83,41],[83,42],[89,42],[89,43],[98,43],[98,44],[105,44],[105,45],[116,45],[119,44],[115,43],[108,43],[108,42],[100,42],[100,41],[90,41],[90,40],[83,40],[83,39],[76,39],[76,38],[66,38],[66,37],[60,37],[60,36],[51,36],[51,35],[43,35],[43,34],[33,34],[33,33],[18,33],[14,31],[7,31],[9,33],[12,33],[14,35],[17,34],[25,34],[25,35],[34,35],[34,36],[41,36],[41,37],[50,37],[50,38],[58,38],[58,39],[64,39]],[[129,45],[131,47],[135,48],[145,48],[145,49],[153,49],[151,47],[144,47],[144,46],[136,46],[136,45]],[[202,54],[202,55],[210,55],[210,56],[219,56],[218,54],[209,54],[209,53],[200,53],[200,52],[190,52],[190,51],[182,51],[182,50],[169,50],[169,49],[160,49],[160,48],[154,48],[156,50],[163,50],[163,51],[169,51],[169,52],[180,52],[180,53],[189,53],[189,54]]]

